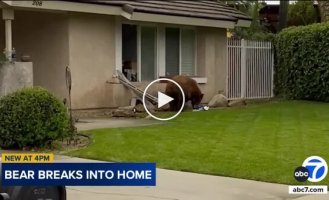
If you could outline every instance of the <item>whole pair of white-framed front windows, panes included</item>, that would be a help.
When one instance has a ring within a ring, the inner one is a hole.
[[[122,24],[122,72],[132,82],[194,76],[195,50],[194,29]]]

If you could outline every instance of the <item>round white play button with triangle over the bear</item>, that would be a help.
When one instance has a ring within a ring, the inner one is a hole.
[[[179,96],[180,98],[179,99],[175,99],[171,96],[168,96],[166,94],[163,93],[163,91],[159,91],[161,87],[159,86],[162,86],[163,82],[172,82],[173,84],[175,84],[177,86],[177,88],[179,88],[179,91],[181,92],[182,95],[177,95]],[[152,89],[150,89],[152,88]],[[155,98],[153,97],[152,95],[150,95],[150,91],[152,91],[152,93],[154,92],[154,90],[157,92],[158,94],[158,97]],[[156,101],[156,104],[157,104],[157,108],[160,109],[162,108],[163,106],[167,105],[168,103],[174,101],[173,103],[177,103],[178,105],[181,104],[180,106],[180,109],[178,112],[176,112],[174,115],[172,115],[172,112],[166,112],[165,114],[168,115],[170,114],[171,116],[170,117],[166,117],[164,118],[163,117],[163,114],[164,112],[150,112],[148,106],[146,105],[149,105],[150,102],[155,102]],[[175,81],[171,80],[171,79],[168,79],[168,78],[159,78],[157,80],[154,80],[152,81],[150,84],[148,84],[148,86],[145,88],[144,90],[144,93],[143,93],[143,106],[144,106],[144,109],[145,111],[154,119],[157,119],[157,120],[160,120],[160,121],[167,121],[167,120],[171,120],[171,119],[174,119],[175,117],[177,117],[181,112],[182,110],[184,109],[184,106],[185,106],[185,95],[184,95],[184,91],[182,89],[182,87],[176,83]],[[160,113],[160,114],[159,114]],[[160,115],[160,116],[155,116],[155,115]]]

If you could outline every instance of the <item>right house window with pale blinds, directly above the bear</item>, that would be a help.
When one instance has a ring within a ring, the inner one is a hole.
[[[195,75],[195,31],[166,28],[166,76]]]

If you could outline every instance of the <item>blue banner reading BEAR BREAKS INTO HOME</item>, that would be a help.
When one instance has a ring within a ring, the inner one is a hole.
[[[155,186],[155,163],[2,163],[2,186]]]

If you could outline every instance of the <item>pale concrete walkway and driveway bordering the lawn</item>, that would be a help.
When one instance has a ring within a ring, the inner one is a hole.
[[[159,124],[152,119],[86,119],[79,131]],[[56,156],[59,162],[100,162]],[[289,195],[288,186],[157,169],[156,187],[67,187],[68,200],[329,200],[328,195]]]

